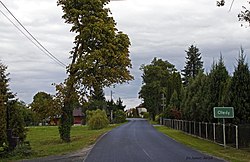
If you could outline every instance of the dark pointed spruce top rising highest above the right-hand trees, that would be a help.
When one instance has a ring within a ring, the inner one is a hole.
[[[195,78],[199,71],[203,71],[203,62],[199,48],[196,46],[191,45],[185,52],[187,53],[186,65],[182,70],[182,75],[184,85],[188,85],[190,79]]]

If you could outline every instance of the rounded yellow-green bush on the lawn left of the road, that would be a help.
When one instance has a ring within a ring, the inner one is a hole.
[[[87,125],[89,129],[102,129],[107,127],[109,120],[106,112],[100,109],[87,111]]]

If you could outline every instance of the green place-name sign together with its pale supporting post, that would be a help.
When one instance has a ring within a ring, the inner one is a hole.
[[[234,108],[233,107],[214,107],[214,118],[223,119],[223,141],[224,141],[224,147],[226,147],[225,118],[234,118]]]

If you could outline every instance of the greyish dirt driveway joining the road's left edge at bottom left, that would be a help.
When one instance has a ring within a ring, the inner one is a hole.
[[[19,162],[83,162],[94,145],[88,146],[77,152],[66,155],[47,156],[37,159],[20,160]]]

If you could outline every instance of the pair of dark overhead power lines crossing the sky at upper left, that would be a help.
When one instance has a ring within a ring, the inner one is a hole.
[[[0,1],[2,6],[8,11],[8,13],[18,22],[18,24],[29,34],[31,38],[29,38],[6,14],[4,14],[1,10],[0,12],[11,22],[12,25],[14,25],[26,38],[28,38],[36,47],[38,47],[43,53],[45,53],[48,57],[50,57],[53,61],[55,61],[57,64],[59,64],[62,67],[66,67],[66,65],[61,62],[58,58],[56,58],[49,50],[47,50],[24,26],[23,24],[12,14],[12,12],[4,5],[2,1]],[[37,45],[36,43],[39,45]]]

